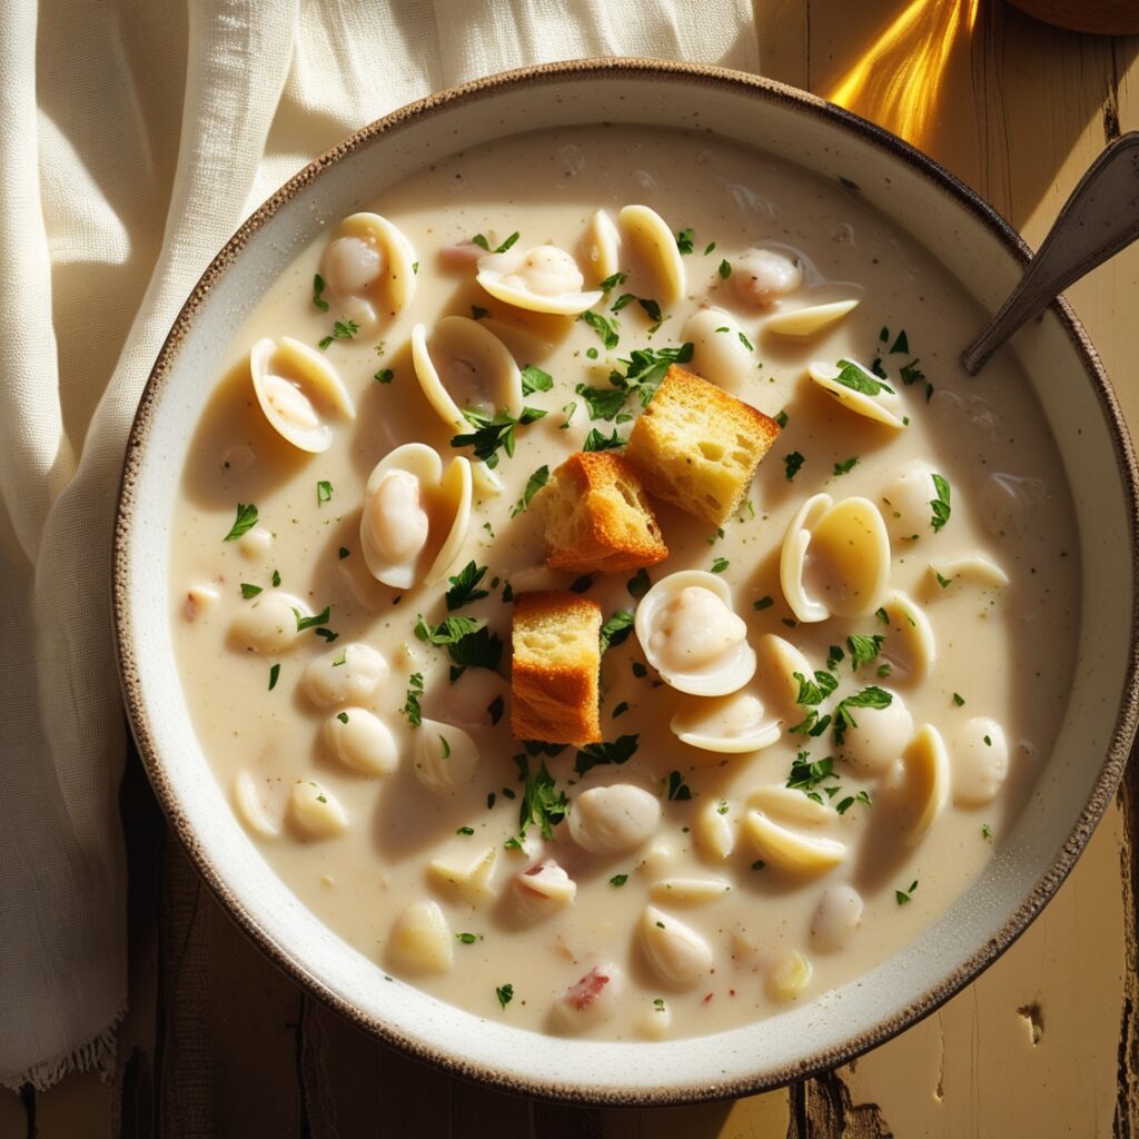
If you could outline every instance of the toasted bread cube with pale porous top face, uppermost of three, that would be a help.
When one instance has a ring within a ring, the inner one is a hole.
[[[722,526],[778,434],[775,419],[673,364],[633,424],[625,458],[649,494]]]

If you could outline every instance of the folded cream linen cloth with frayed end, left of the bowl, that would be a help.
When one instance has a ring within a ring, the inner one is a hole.
[[[0,1083],[114,1065],[110,538],[179,305],[249,212],[357,128],[481,75],[613,55],[755,71],[751,0],[0,5]]]

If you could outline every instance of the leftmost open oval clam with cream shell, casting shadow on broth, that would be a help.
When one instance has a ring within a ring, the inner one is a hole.
[[[269,426],[301,451],[327,451],[330,418],[355,419],[355,408],[336,369],[317,351],[282,336],[249,349],[249,374]]]

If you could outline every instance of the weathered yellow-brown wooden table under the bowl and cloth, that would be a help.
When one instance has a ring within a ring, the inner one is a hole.
[[[1080,36],[1001,0],[755,0],[765,75],[921,147],[1038,244],[1092,157],[1139,128],[1139,38]],[[1072,289],[1139,425],[1139,247]],[[1139,1137],[1134,765],[1056,900],[939,1013],[857,1063],[735,1103],[591,1111],[473,1087],[377,1043],[237,932],[123,789],[131,1010],[110,1082],[0,1093],[0,1136]]]

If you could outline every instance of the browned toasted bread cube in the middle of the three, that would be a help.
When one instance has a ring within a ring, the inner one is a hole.
[[[621,573],[669,556],[640,476],[622,454],[571,454],[534,502],[546,522],[551,570]]]

